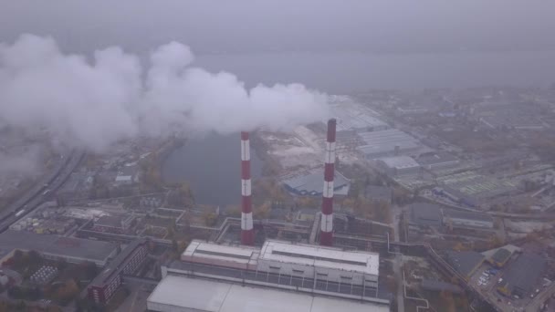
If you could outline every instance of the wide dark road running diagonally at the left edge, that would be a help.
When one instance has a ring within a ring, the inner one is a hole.
[[[26,192],[15,203],[8,206],[2,213],[0,213],[0,233],[9,228],[11,224],[16,223],[17,220],[25,217],[27,213],[31,213],[37,209],[40,203],[43,203],[47,198],[43,196],[43,192],[50,190],[50,193],[56,192],[64,182],[68,180],[69,175],[78,166],[82,160],[85,152],[72,151],[67,155],[63,155],[58,160],[55,169],[47,174],[40,182],[38,182],[31,190]],[[16,215],[16,212],[24,210],[23,213]]]

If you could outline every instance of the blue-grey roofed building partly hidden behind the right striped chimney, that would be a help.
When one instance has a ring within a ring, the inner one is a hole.
[[[321,195],[324,190],[324,168],[319,167],[307,172],[289,175],[283,180],[288,191],[301,195]],[[346,195],[349,192],[349,180],[340,172],[335,171],[333,189],[336,195]]]

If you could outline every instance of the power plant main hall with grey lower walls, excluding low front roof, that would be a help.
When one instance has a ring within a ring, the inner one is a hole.
[[[356,299],[385,307],[390,300],[387,294],[379,293],[378,254],[277,240],[267,240],[262,247],[194,240],[181,260],[162,265],[162,276],[208,278],[218,283]],[[152,302],[159,302],[155,298]]]

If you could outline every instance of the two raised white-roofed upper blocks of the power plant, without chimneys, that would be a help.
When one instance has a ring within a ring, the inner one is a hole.
[[[379,255],[311,244],[267,240],[262,248],[206,243],[194,240],[181,256],[183,262],[216,265],[298,276],[336,283],[376,287]]]

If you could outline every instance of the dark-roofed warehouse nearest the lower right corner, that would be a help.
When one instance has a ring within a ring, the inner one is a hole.
[[[546,259],[539,255],[520,255],[508,265],[497,290],[505,296],[528,296],[539,283],[546,266]]]

